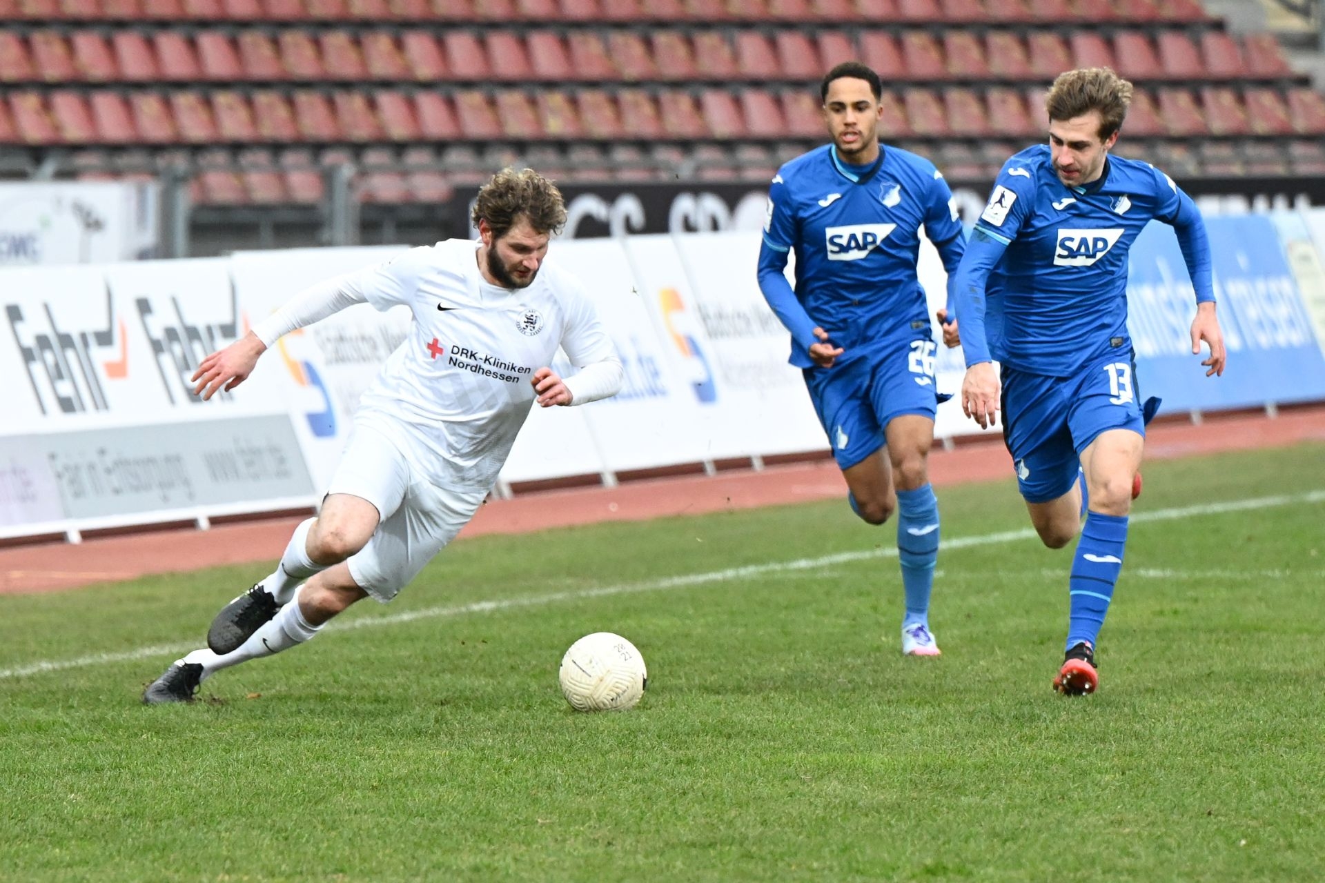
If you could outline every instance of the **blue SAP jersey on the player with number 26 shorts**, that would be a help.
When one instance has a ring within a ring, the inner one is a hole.
[[[868,167],[847,165],[832,144],[784,164],[768,188],[759,250],[759,287],[791,331],[791,363],[808,368],[822,327],[845,351],[930,335],[925,291],[916,274],[920,230],[949,273],[962,257],[962,226],[947,181],[929,160],[881,146]],[[795,252],[796,286],[783,275]]]

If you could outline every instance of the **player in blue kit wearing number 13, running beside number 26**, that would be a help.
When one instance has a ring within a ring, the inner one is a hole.
[[[1003,436],[1031,523],[1049,548],[1081,530],[1053,679],[1065,695],[1098,688],[1096,638],[1122,569],[1145,421],[1158,405],[1140,402],[1126,299],[1128,250],[1151,218],[1174,228],[1191,274],[1191,352],[1208,344],[1207,377],[1222,375],[1226,359],[1200,212],[1153,165],[1109,156],[1130,101],[1132,83],[1106,68],[1055,79],[1049,143],[1003,165],[951,286],[963,410],[992,425],[1002,385]]]

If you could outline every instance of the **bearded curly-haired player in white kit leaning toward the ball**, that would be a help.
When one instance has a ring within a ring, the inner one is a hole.
[[[216,616],[208,647],[171,665],[143,702],[189,702],[216,671],[307,641],[355,601],[390,601],[473,518],[535,400],[582,405],[621,388],[621,361],[580,283],[543,262],[566,222],[556,187],[504,169],[478,191],[473,220],[480,241],[411,249],[314,285],[203,360],[195,395],[211,398],[242,383],[281,335],[333,312],[413,312],[363,393],[318,516],[295,528],[274,573]],[[549,367],[558,347],[579,369],[571,377]]]

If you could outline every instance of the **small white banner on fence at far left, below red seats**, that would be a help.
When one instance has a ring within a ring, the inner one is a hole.
[[[159,242],[156,205],[151,181],[5,181],[0,266],[152,257]]]

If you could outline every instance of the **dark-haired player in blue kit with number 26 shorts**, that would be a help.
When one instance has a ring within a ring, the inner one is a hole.
[[[949,274],[965,238],[934,164],[878,143],[881,94],[878,74],[859,62],[823,78],[832,144],[772,179],[759,287],[791,332],[791,364],[804,372],[852,510],[869,524],[898,511],[902,653],[937,657],[929,600],[939,522],[928,466],[935,344],[916,261],[922,226]],[[791,250],[795,290],[783,274]],[[945,330],[955,334],[951,323]]]

